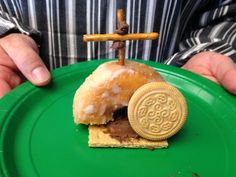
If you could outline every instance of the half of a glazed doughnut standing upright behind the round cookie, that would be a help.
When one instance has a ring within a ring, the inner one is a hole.
[[[106,124],[113,112],[128,106],[133,93],[149,82],[164,81],[151,67],[126,60],[101,64],[77,89],[73,100],[76,124]]]

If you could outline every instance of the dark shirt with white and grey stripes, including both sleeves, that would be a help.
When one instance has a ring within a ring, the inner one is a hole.
[[[236,61],[233,0],[0,0],[0,35],[31,35],[50,69],[114,58],[111,41],[85,43],[82,37],[114,33],[118,8],[130,33],[160,34],[154,41],[126,41],[126,58],[182,66],[192,55],[210,50]]]

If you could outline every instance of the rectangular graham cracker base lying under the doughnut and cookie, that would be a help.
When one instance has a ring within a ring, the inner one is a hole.
[[[166,148],[168,146],[167,140],[149,141],[144,138],[130,138],[129,141],[118,141],[110,137],[109,134],[104,133],[106,127],[90,125],[89,126],[89,147],[117,147],[117,148]]]

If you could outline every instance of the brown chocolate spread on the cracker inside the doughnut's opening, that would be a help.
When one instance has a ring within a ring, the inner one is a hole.
[[[132,138],[139,139],[140,136],[130,126],[127,107],[116,110],[113,114],[114,121],[111,121],[104,125],[106,128],[104,133],[110,135],[110,137],[120,141],[130,141]]]

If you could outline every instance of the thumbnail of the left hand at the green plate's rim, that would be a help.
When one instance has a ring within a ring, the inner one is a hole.
[[[48,70],[42,66],[35,68],[32,71],[32,75],[35,79],[35,82],[37,82],[38,84],[48,82],[48,80],[50,79]]]

